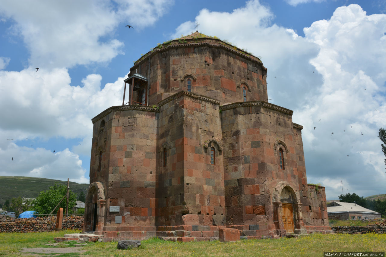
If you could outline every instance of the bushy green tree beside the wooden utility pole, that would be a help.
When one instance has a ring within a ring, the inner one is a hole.
[[[39,215],[49,214],[58,205],[58,203],[66,196],[67,186],[64,184],[56,183],[54,186],[50,186],[48,190],[41,191],[34,201],[34,209]],[[71,210],[76,204],[76,193],[69,190],[68,210]],[[66,198],[61,201],[58,208],[66,210]],[[54,210],[54,213],[58,211],[58,208]]]

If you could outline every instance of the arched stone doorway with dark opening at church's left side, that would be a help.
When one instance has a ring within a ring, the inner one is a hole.
[[[105,190],[100,182],[88,187],[83,232],[102,232],[105,222]]]

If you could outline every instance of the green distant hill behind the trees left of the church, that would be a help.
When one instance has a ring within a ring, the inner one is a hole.
[[[57,179],[0,176],[0,204],[4,205],[6,200],[19,196],[36,198],[41,191],[46,191],[55,182],[67,184],[67,181]],[[70,190],[76,194],[79,195],[83,192],[86,195],[89,184],[78,184],[70,181],[69,186]]]

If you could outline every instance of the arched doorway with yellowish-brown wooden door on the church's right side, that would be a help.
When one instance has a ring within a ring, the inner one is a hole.
[[[296,196],[292,188],[285,186],[280,193],[280,201],[282,203],[282,215],[284,229],[287,233],[295,232],[294,221],[294,204],[296,204]]]

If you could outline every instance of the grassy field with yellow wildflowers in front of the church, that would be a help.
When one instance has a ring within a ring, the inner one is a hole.
[[[20,251],[43,245],[54,237],[74,231],[41,233],[0,233],[0,256],[23,256]],[[300,238],[241,240],[239,242],[169,242],[159,239],[144,240],[132,250],[118,250],[117,242],[88,243],[73,247],[74,252],[60,255],[27,254],[24,256],[323,256],[325,251],[384,252],[386,234],[365,235],[308,235]],[[86,252],[76,252],[78,249]]]

